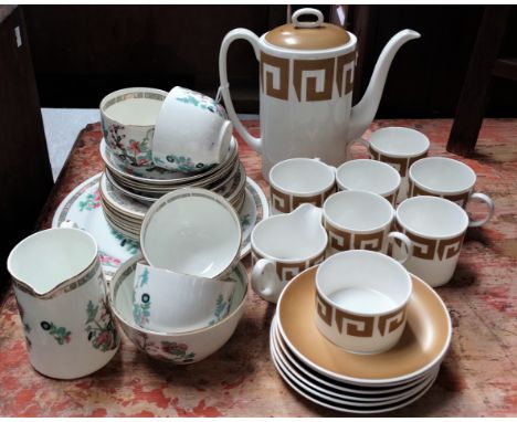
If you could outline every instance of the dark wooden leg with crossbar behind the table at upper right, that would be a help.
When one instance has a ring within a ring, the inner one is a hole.
[[[490,96],[493,77],[517,81],[517,50],[514,57],[499,57],[510,11],[510,6],[485,8],[457,103],[447,151],[462,156],[474,151]],[[517,110],[517,106],[515,109]]]

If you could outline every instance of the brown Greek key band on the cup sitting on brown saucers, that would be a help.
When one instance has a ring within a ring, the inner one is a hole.
[[[337,309],[325,300],[318,292],[316,292],[316,312],[329,327],[333,326],[333,323],[336,324],[339,334],[366,338],[376,335],[376,317],[354,315]],[[405,306],[391,314],[380,316],[377,321],[377,329],[379,335],[383,337],[397,330],[404,321]]]

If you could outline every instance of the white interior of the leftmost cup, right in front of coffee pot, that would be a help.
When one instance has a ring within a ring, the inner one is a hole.
[[[287,193],[309,196],[329,189],[335,176],[334,170],[325,162],[310,158],[292,158],[273,166],[270,181]]]

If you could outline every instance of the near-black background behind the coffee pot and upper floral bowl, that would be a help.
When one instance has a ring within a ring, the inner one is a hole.
[[[319,7],[329,17],[329,7]],[[422,39],[404,45],[390,71],[378,117],[452,117],[477,33],[482,6],[361,6],[348,29],[367,43],[356,97],[366,89],[388,40],[404,28]],[[285,23],[285,6],[24,6],[42,106],[97,107],[125,86],[188,86],[215,95],[219,46],[234,28],[256,34]],[[515,22],[515,20],[514,20]],[[361,23],[359,28],[359,23]],[[517,25],[505,49],[515,52]],[[515,36],[514,36],[515,35]],[[251,46],[229,54],[240,113],[257,112],[257,63]],[[516,116],[517,84],[496,81],[488,116]]]

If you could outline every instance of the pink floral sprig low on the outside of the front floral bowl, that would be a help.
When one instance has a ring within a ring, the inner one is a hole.
[[[176,341],[151,341],[145,333],[126,333],[131,341],[141,351],[151,357],[172,363],[191,363],[194,361],[196,354],[189,351],[189,346],[184,342]]]

